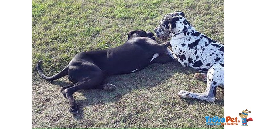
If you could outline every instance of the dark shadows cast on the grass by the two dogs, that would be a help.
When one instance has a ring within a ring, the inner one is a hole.
[[[106,82],[112,83],[117,86],[115,91],[103,91],[97,89],[80,90],[86,99],[76,99],[80,106],[79,113],[74,116],[75,119],[83,119],[84,107],[96,104],[105,104],[109,102],[119,102],[120,99],[127,93],[133,90],[149,89],[165,82],[171,78],[175,73],[182,73],[185,75],[193,74],[198,71],[189,68],[181,67],[177,62],[170,62],[166,64],[151,64],[145,69],[131,74],[113,75],[106,78]],[[52,84],[59,85],[60,87],[72,84],[63,81],[52,81]],[[205,83],[206,84],[206,83]],[[206,88],[206,87],[205,87]],[[202,91],[203,92],[203,91]],[[217,93],[218,94],[218,93]],[[182,101],[190,104],[200,104],[201,102],[212,104],[224,105],[224,100],[216,100],[214,103],[201,101],[197,99],[183,99]]]

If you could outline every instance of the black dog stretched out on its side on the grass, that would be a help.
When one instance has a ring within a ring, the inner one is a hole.
[[[64,86],[61,92],[68,99],[69,111],[78,113],[78,105],[73,98],[73,93],[81,89],[113,90],[115,85],[104,84],[104,79],[109,75],[128,74],[147,67],[150,63],[166,63],[173,61],[168,55],[164,56],[170,42],[158,44],[152,32],[143,30],[131,31],[125,44],[100,51],[78,53],[62,71],[47,77],[40,68],[40,60],[36,67],[45,80],[56,80],[65,75],[73,85]],[[161,54],[161,55],[160,55]]]

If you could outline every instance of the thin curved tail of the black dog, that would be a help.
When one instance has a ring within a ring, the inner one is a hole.
[[[59,73],[57,73],[57,74],[55,74],[55,75],[53,75],[53,76],[51,76],[51,77],[47,77],[47,76],[45,76],[44,73],[42,72],[42,69],[41,69],[41,67],[40,67],[41,64],[42,64],[42,61],[39,60],[38,63],[36,64],[37,71],[38,71],[38,73],[40,74],[40,76],[41,76],[43,79],[47,80],[47,81],[56,80],[56,79],[59,79],[59,78],[61,78],[61,77],[64,77],[64,76],[68,75],[68,66],[67,66],[66,68],[64,68],[64,69],[63,69],[62,71],[60,71]]]

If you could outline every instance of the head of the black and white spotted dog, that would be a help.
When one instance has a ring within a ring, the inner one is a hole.
[[[154,32],[158,38],[166,40],[173,34],[186,30],[189,26],[190,23],[185,19],[185,14],[178,11],[164,15]]]

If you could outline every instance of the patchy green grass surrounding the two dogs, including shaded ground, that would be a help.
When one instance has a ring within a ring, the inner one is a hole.
[[[200,32],[224,43],[223,0],[33,0],[32,66],[43,60],[46,75],[62,70],[81,51],[116,47],[129,31],[152,31],[170,12],[183,11]],[[32,71],[33,128],[223,128],[206,126],[205,116],[224,117],[224,89],[217,88],[214,103],[180,99],[176,92],[203,92],[206,83],[197,71],[176,62],[149,65],[142,71],[108,77],[117,89],[74,94],[82,110],[68,112],[60,87]]]

